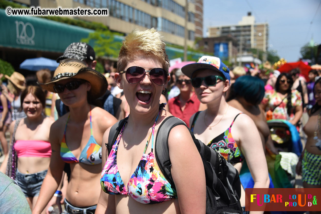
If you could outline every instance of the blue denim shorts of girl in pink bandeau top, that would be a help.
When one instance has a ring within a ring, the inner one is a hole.
[[[16,181],[26,198],[39,196],[41,184],[46,177],[47,171],[46,169],[34,174],[23,174],[17,169]]]

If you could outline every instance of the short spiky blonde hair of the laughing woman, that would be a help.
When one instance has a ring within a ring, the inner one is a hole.
[[[117,71],[125,70],[130,60],[135,60],[137,54],[142,53],[148,57],[154,57],[160,61],[162,68],[168,73],[169,59],[165,50],[165,42],[155,28],[146,31],[139,29],[130,32],[123,41],[123,46],[120,48]]]

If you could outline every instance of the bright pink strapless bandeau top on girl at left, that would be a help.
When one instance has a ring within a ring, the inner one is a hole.
[[[51,145],[43,140],[17,140],[14,149],[18,157],[51,157]]]

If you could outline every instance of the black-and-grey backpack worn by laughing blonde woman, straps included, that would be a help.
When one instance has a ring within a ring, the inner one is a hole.
[[[118,121],[110,129],[108,144],[106,145],[108,151],[110,151],[109,148],[115,143],[126,119]],[[175,184],[170,173],[171,163],[169,160],[168,136],[170,130],[178,125],[186,126],[184,121],[174,116],[165,118],[157,131],[154,145],[157,164],[173,188],[175,188]],[[241,183],[238,171],[221,154],[196,139],[191,131],[190,133],[202,157],[205,170],[206,214],[241,214],[242,208],[239,202]]]

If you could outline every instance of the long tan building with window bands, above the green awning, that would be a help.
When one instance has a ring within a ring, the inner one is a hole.
[[[154,27],[162,32],[165,42],[179,46],[184,46],[185,8],[188,4],[187,45],[194,47],[195,36],[201,37],[203,31],[203,0],[188,3],[186,0],[15,0],[15,2],[43,8],[57,6],[108,8],[109,17],[76,18],[100,22],[108,26],[111,31],[121,33]]]

